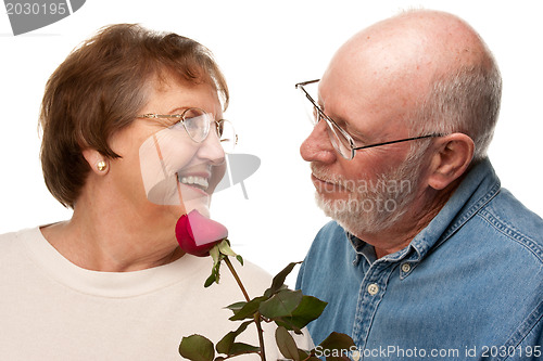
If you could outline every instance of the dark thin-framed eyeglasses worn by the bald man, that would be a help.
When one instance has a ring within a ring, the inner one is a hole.
[[[310,85],[316,86],[316,83],[320,81],[320,79],[316,80],[310,80],[310,81],[303,81],[299,82],[295,85],[296,89],[300,89],[300,91],[303,93],[303,95],[311,102],[306,103],[310,105],[310,108],[307,109],[307,115],[310,117],[310,120],[312,121],[313,126],[316,126],[320,120],[325,120],[327,124],[327,131],[328,131],[328,137],[330,138],[330,141],[336,149],[336,151],[341,154],[341,156],[345,159],[351,160],[354,158],[354,155],[356,154],[356,151],[358,150],[366,150],[369,147],[375,147],[375,146],[381,146],[381,145],[388,145],[388,144],[394,144],[394,143],[400,143],[400,142],[407,142],[407,141],[413,141],[417,139],[425,139],[425,138],[433,138],[433,137],[443,137],[444,134],[441,133],[432,133],[432,134],[427,134],[427,136],[419,136],[419,137],[414,137],[414,138],[406,138],[406,139],[400,139],[400,140],[394,140],[394,141],[389,141],[389,142],[382,142],[382,143],[376,143],[376,144],[370,144],[370,145],[364,145],[364,146],[356,146],[354,143],[353,138],[338,124],[327,116],[325,112],[318,106],[318,104],[315,102],[315,99],[310,94],[312,92],[311,90],[307,90],[306,87]],[[316,87],[314,87],[316,88]],[[316,89],[314,94],[316,93]],[[317,98],[315,95],[315,98]]]

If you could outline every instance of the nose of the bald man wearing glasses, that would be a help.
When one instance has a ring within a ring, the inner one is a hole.
[[[306,162],[332,163],[336,160],[336,151],[330,141],[325,120],[320,120],[313,128],[310,137],[300,145],[300,154]]]

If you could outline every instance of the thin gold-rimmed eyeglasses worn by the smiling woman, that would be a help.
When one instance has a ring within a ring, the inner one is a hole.
[[[225,153],[231,153],[238,143],[238,134],[236,134],[236,130],[230,121],[226,119],[215,120],[213,115],[198,107],[190,107],[181,114],[143,114],[138,115],[138,118],[177,119],[169,129],[185,129],[190,139],[195,143],[201,143],[207,138],[212,128],[211,125],[213,124]]]

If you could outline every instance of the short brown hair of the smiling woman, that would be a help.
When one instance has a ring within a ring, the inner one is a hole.
[[[90,167],[81,150],[118,157],[108,144],[110,137],[146,105],[149,80],[171,75],[211,82],[226,108],[228,88],[211,52],[173,33],[136,24],[106,26],[56,68],[41,104],[40,157],[46,185],[59,202],[73,208],[85,184]]]

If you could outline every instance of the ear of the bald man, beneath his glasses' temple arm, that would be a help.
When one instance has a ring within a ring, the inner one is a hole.
[[[468,169],[473,158],[475,143],[464,133],[452,133],[438,138],[437,146],[428,185],[443,190]]]

